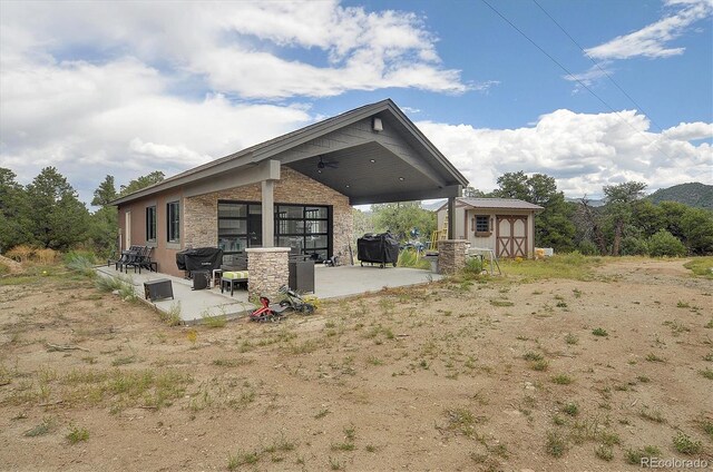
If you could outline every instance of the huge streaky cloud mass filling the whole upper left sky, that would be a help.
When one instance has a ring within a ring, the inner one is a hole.
[[[0,166],[22,183],[56,166],[85,200],[106,174],[172,175],[313,122],[300,97],[470,88],[410,12],[336,1],[1,9]]]

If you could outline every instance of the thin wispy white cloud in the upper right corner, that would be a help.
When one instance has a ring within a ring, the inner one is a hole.
[[[666,4],[683,8],[638,31],[588,48],[585,50],[586,53],[599,60],[629,59],[638,56],[667,58],[682,55],[685,48],[668,47],[668,43],[686,32],[694,22],[710,17],[713,13],[713,1],[670,0]]]

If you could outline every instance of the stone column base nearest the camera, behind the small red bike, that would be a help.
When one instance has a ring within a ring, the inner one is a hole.
[[[264,295],[275,298],[281,286],[287,285],[289,247],[251,247],[247,252],[247,294],[250,299]]]

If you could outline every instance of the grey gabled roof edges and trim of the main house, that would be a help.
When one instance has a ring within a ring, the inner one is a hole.
[[[113,201],[114,205],[128,203],[148,195],[165,191],[175,187],[191,185],[202,179],[217,176],[228,170],[236,170],[243,166],[255,165],[261,161],[275,158],[279,154],[293,149],[296,146],[305,144],[315,138],[320,138],[329,132],[339,130],[340,128],[352,125],[375,115],[387,116],[394,119],[394,122],[401,126],[402,130],[409,135],[409,139],[420,151],[428,155],[434,165],[441,170],[447,178],[438,176],[443,183],[441,187],[466,186],[468,180],[448,161],[448,159],[431,144],[431,141],[413,125],[413,122],[397,107],[391,99],[378,101],[375,104],[365,105],[353,110],[343,112],[332,118],[309,125],[286,135],[279,136],[274,139],[251,146],[228,156],[212,160],[198,167],[194,167],[184,173],[172,176],[158,184],[135,191],[125,197]],[[291,167],[299,167],[292,163]],[[314,177],[313,177],[314,178]],[[349,187],[349,186],[346,186]],[[346,193],[345,193],[346,194]],[[404,194],[406,195],[406,194]],[[363,198],[363,196],[359,196]]]

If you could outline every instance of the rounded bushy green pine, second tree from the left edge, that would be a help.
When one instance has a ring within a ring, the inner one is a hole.
[[[29,229],[37,243],[67,249],[87,237],[89,212],[55,167],[46,167],[27,186]]]

